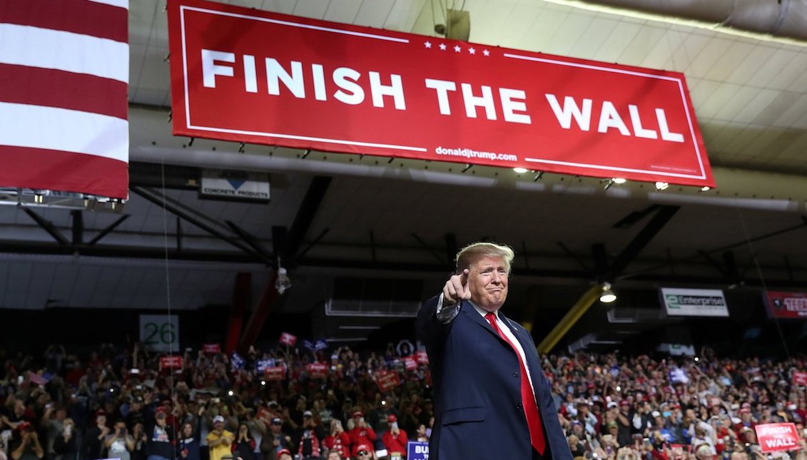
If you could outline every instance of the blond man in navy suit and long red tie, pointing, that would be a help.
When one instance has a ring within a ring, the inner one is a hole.
[[[499,312],[513,252],[475,243],[417,317],[434,383],[430,460],[571,460],[529,332]]]

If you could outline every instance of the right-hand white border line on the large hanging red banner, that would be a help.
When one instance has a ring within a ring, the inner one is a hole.
[[[631,169],[631,168],[618,168],[613,166],[603,166],[603,165],[589,165],[587,163],[573,163],[571,161],[554,161],[554,160],[541,160],[539,158],[525,158],[525,161],[530,161],[533,163],[547,163],[550,165],[567,165],[567,166],[577,166],[579,168],[589,168],[589,169],[608,169],[613,171],[624,171],[625,173],[645,173],[645,174],[656,174],[659,176],[669,176],[671,178],[690,178],[690,179],[705,179],[706,172],[704,170],[704,161],[700,154],[700,148],[698,148],[698,141],[697,137],[695,136],[695,128],[692,128],[692,116],[689,115],[689,107],[687,106],[686,98],[684,98],[684,85],[681,83],[680,78],[675,77],[665,77],[663,75],[654,75],[652,73],[642,73],[642,72],[633,72],[632,70],[622,70],[622,69],[611,69],[610,67],[600,67],[597,65],[587,65],[587,64],[577,64],[575,62],[564,62],[564,61],[556,61],[554,59],[546,59],[544,57],[533,57],[533,56],[522,56],[520,54],[512,54],[510,52],[505,52],[503,54],[504,57],[509,57],[512,59],[521,59],[522,61],[534,61],[534,62],[543,62],[546,64],[556,64],[556,65],[566,65],[567,67],[579,67],[581,69],[589,69],[589,70],[600,70],[602,72],[612,72],[612,73],[624,73],[625,75],[634,75],[638,77],[649,77],[649,78],[656,78],[659,80],[669,80],[671,82],[678,83],[678,90],[681,94],[681,102],[684,103],[684,113],[687,114],[687,123],[689,124],[689,135],[692,139],[692,145],[695,146],[695,157],[698,160],[698,165],[700,165],[700,176],[692,175],[692,174],[676,174],[676,173],[665,173],[663,171],[646,171],[645,169]]]

